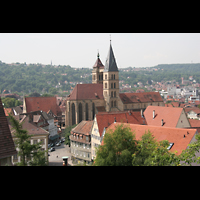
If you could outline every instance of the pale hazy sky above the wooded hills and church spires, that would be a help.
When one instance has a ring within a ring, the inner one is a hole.
[[[200,63],[200,33],[0,33],[0,60],[92,68],[110,35],[118,68]]]

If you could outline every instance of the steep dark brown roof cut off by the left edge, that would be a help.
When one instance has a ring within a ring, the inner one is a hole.
[[[15,155],[16,149],[0,98],[0,159]]]

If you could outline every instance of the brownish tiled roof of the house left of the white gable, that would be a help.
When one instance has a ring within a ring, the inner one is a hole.
[[[83,135],[90,135],[90,131],[93,125],[93,121],[81,121],[75,128],[71,131],[73,133],[83,134]]]

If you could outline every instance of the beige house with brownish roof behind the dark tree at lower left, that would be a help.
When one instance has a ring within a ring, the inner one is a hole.
[[[19,116],[14,116],[17,120],[19,119]],[[37,117],[34,117],[36,119]],[[37,126],[34,122],[31,120],[30,115],[24,115],[23,118],[19,121],[22,123],[22,128],[28,131],[29,135],[33,135],[30,139],[31,144],[36,144],[37,142],[42,142],[42,150],[46,151],[48,150],[48,138],[49,138],[49,132],[45,129]],[[39,122],[39,121],[38,121]],[[9,124],[9,128],[11,130],[12,138],[15,141],[17,138],[14,135],[14,131],[12,129],[11,124]],[[19,151],[18,148],[16,148],[17,151]],[[48,161],[48,153],[45,153],[45,157]],[[29,158],[31,159],[31,158]],[[18,154],[15,154],[12,156],[12,163],[16,164],[17,162],[21,161],[21,157]]]

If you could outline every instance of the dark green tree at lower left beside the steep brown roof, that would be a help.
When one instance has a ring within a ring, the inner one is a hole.
[[[19,149],[18,155],[21,156],[21,161],[17,164],[19,166],[27,166],[28,162],[30,166],[45,166],[47,161],[45,158],[45,151],[41,150],[41,142],[37,144],[31,144],[30,138],[32,135],[28,135],[28,131],[22,129],[22,123],[19,123],[12,115],[9,114],[9,119],[16,136],[15,144]],[[32,160],[29,161],[29,158]]]

